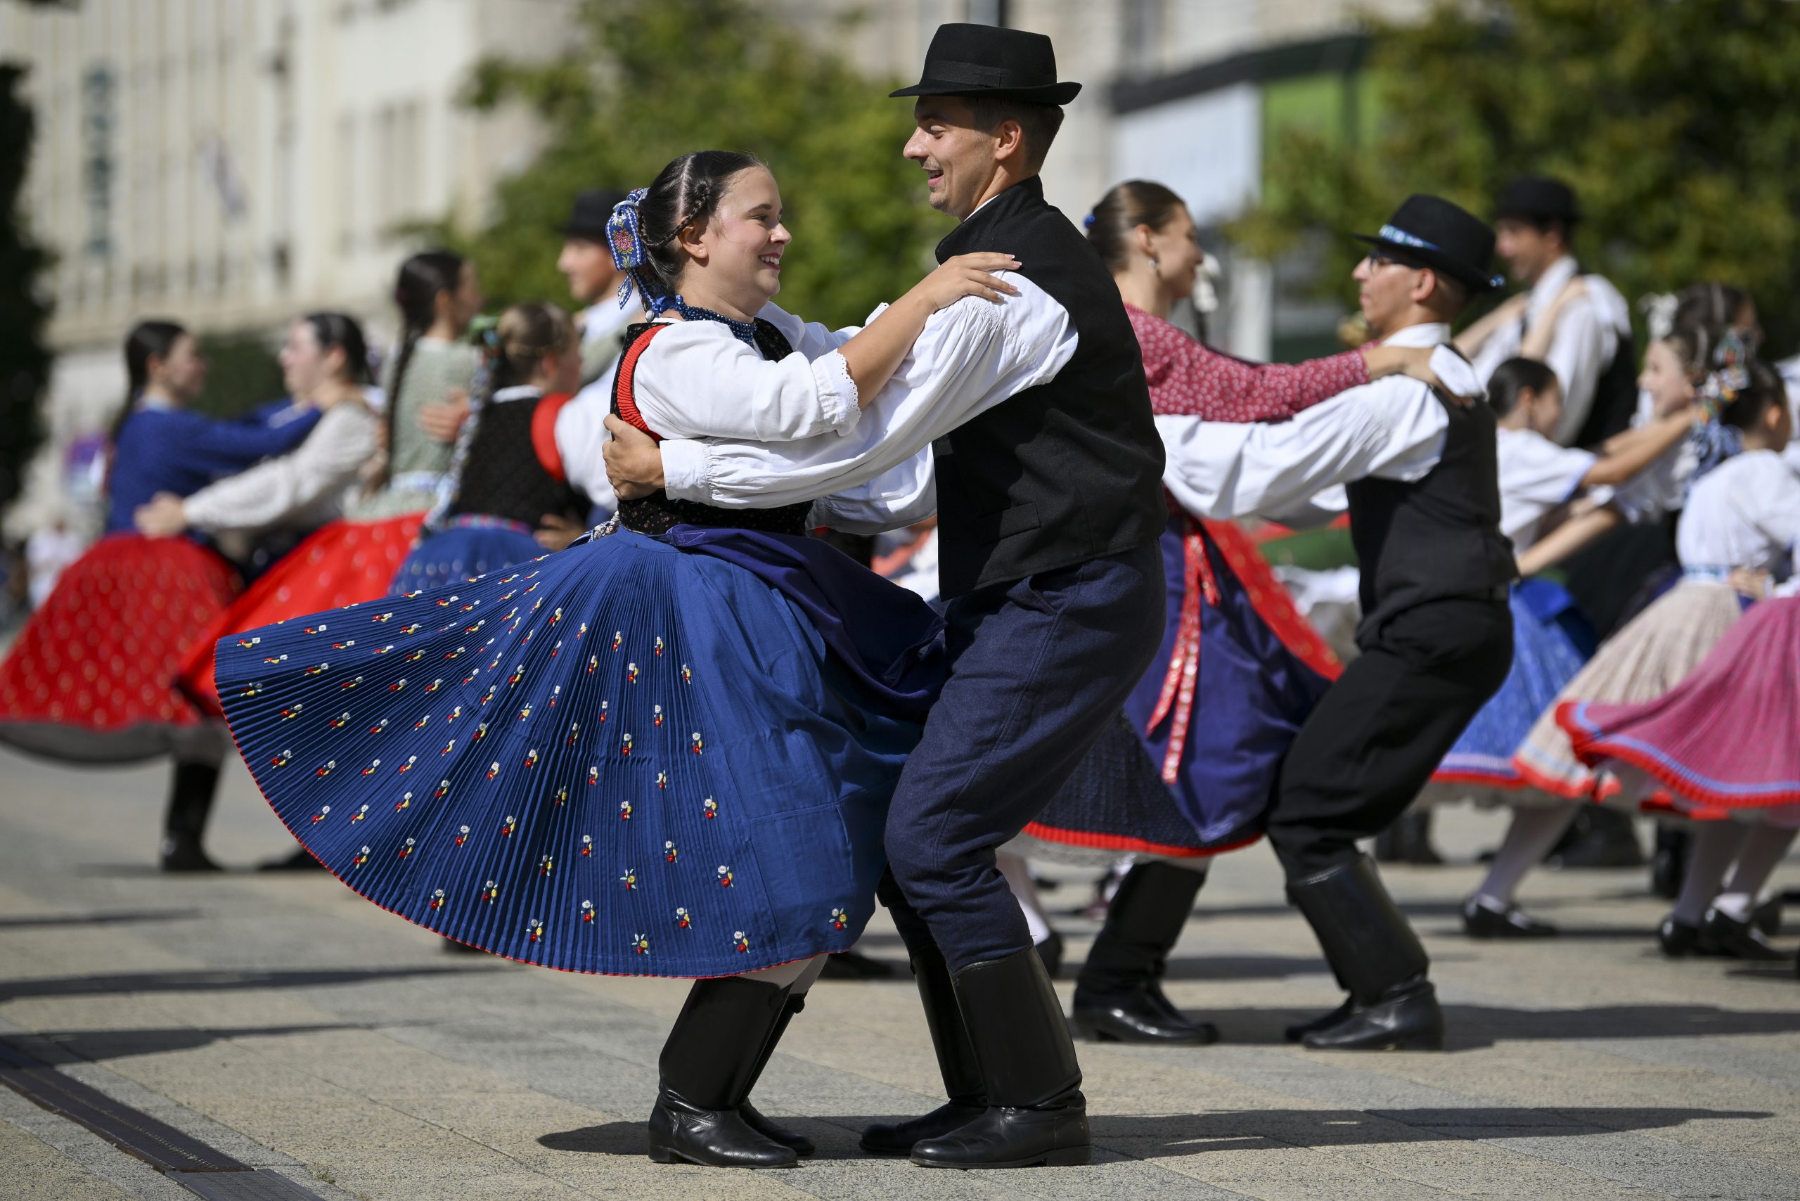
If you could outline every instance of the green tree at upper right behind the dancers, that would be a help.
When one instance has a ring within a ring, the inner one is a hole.
[[[1627,297],[1735,283],[1773,346],[1800,337],[1800,5],[1438,0],[1372,38],[1373,137],[1278,135],[1246,248],[1375,229],[1413,191],[1487,214],[1505,180],[1557,175],[1584,209],[1577,254]],[[1321,286],[1341,295],[1359,254],[1334,239]]]

